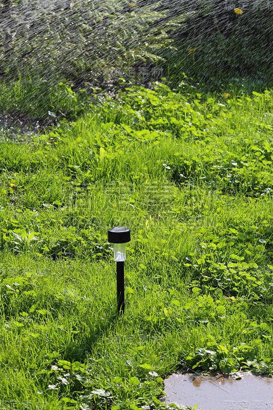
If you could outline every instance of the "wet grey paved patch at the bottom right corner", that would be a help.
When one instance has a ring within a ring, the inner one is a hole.
[[[173,374],[164,381],[164,402],[197,404],[198,410],[273,410],[273,378],[250,372],[236,376]]]

